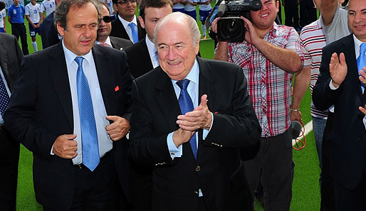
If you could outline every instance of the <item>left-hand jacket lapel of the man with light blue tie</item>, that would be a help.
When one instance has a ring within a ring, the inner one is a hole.
[[[73,102],[71,99],[70,82],[68,80],[68,67],[63,53],[62,42],[53,47],[51,61],[49,63],[51,77],[55,90],[66,113],[68,122],[73,129]]]

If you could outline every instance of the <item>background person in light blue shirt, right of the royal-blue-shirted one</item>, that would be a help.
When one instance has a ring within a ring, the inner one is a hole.
[[[31,3],[26,5],[26,19],[28,21],[29,35],[32,39],[32,46],[34,52],[37,52],[38,47],[36,42],[36,34],[41,32],[39,28],[43,21],[43,13],[41,10],[41,5],[37,4],[36,0],[31,0]]]

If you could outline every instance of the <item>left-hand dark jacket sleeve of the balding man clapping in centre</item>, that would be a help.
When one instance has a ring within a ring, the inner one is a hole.
[[[130,157],[136,163],[143,165],[157,165],[157,163],[172,165],[167,146],[168,134],[155,135],[152,126],[154,120],[147,105],[140,97],[135,80],[132,84],[132,101]]]

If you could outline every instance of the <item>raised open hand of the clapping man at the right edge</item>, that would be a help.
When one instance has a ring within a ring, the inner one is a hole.
[[[340,84],[345,80],[345,76],[347,75],[347,64],[345,63],[345,54],[340,53],[340,57],[338,60],[337,53],[332,54],[332,58],[330,58],[329,63],[329,73],[330,77],[332,77],[332,84],[334,87],[339,87]]]

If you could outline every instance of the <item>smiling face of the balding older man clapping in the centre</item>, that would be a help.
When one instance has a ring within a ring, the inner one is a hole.
[[[156,38],[159,64],[172,80],[183,80],[191,71],[199,50],[193,43],[187,21],[165,22]]]

